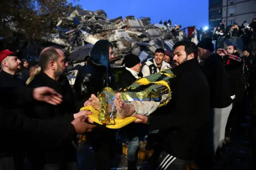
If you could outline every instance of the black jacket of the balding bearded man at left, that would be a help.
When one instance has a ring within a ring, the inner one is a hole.
[[[33,119],[51,120],[58,119],[66,123],[74,120],[73,114],[75,113],[74,101],[72,96],[72,89],[66,77],[56,81],[50,78],[46,73],[41,71],[36,77],[28,84],[29,87],[42,87],[47,86],[56,90],[63,96],[63,102],[60,105],[50,105],[44,102],[36,102],[34,105],[29,105],[26,109],[26,114]],[[76,138],[73,139],[76,141]],[[46,150],[33,145],[30,150],[29,159],[43,163],[60,163],[60,162],[75,162],[76,149],[70,143],[63,148],[56,148]]]

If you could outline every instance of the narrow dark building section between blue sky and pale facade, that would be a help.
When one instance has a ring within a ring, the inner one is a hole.
[[[209,0],[209,28],[220,26],[222,4],[222,0]]]

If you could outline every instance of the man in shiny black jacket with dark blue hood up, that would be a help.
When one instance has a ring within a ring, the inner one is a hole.
[[[92,94],[97,95],[105,87],[115,88],[116,82],[109,63],[114,58],[112,49],[113,46],[108,40],[99,40],[94,44],[88,64],[84,67],[81,79],[78,80],[80,85],[76,89],[83,103]],[[115,130],[98,125],[94,132],[86,136],[95,153],[96,169],[110,170],[114,156]]]

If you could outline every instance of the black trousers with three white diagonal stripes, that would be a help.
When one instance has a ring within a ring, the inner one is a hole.
[[[186,170],[188,164],[191,164],[194,160],[182,160],[176,158],[166,152],[162,152],[156,164],[153,164],[152,170]]]

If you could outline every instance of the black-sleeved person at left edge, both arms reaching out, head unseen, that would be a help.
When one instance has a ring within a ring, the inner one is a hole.
[[[65,146],[77,134],[89,132],[94,128],[78,117],[71,123],[60,120],[41,121],[30,119],[23,114],[10,113],[9,107],[16,108],[35,100],[58,105],[62,96],[48,87],[0,87],[0,169],[14,170],[12,155],[2,157],[19,148],[30,148],[31,143],[38,147],[56,149]],[[34,98],[34,99],[33,99]],[[92,121],[90,121],[92,123]],[[16,140],[17,139],[17,140]]]

